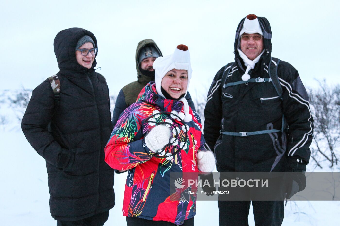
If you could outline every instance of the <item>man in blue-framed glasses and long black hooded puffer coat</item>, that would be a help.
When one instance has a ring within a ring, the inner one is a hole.
[[[103,225],[115,205],[114,170],[104,161],[113,129],[109,93],[94,69],[97,50],[89,31],[59,32],[59,72],[33,90],[22,118],[24,135],[46,160],[50,212],[58,226]]]

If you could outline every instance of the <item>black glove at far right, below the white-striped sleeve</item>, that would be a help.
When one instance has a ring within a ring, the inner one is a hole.
[[[287,170],[287,190],[286,199],[290,199],[294,194],[306,188],[306,164],[302,159],[289,158]]]

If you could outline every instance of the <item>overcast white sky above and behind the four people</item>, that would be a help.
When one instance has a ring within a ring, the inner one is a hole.
[[[135,51],[155,40],[163,55],[189,46],[193,69],[189,90],[206,89],[216,72],[234,59],[234,37],[248,14],[266,17],[272,56],[291,63],[307,87],[317,79],[339,83],[339,1],[2,1],[0,90],[34,89],[58,72],[55,35],[82,27],[98,40],[97,66],[111,94],[136,80]]]

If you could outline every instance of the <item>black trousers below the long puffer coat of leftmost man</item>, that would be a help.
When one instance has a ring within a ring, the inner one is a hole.
[[[57,221],[57,226],[103,226],[107,219],[108,211],[78,221]]]

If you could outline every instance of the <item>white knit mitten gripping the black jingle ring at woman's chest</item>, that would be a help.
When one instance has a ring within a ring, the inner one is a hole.
[[[155,126],[145,137],[145,144],[156,153],[159,149],[169,144],[170,129],[165,125]]]

